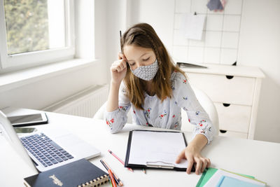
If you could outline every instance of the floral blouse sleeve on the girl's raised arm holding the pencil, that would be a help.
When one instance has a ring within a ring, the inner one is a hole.
[[[122,82],[118,94],[118,109],[111,112],[105,110],[104,112],[104,120],[110,127],[111,133],[119,132],[127,123],[127,112],[130,111],[131,103],[126,93],[125,85]]]

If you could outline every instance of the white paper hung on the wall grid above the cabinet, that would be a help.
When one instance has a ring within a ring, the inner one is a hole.
[[[183,15],[181,33],[185,39],[202,40],[205,15],[187,13]]]

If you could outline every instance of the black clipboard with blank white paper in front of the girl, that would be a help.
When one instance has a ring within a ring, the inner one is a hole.
[[[127,141],[125,167],[133,169],[173,169],[185,171],[188,161],[176,164],[179,153],[188,146],[185,134],[176,131],[132,130]],[[193,166],[192,172],[195,171]]]

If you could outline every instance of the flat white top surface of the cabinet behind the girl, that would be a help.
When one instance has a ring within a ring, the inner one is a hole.
[[[254,78],[265,78],[265,74],[262,73],[258,67],[243,67],[243,66],[230,66],[222,64],[201,64],[207,68],[186,68],[181,67],[186,73],[198,73],[198,74],[220,74],[228,76],[245,76]]]

